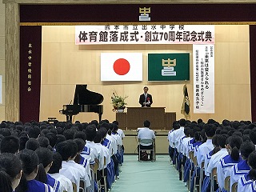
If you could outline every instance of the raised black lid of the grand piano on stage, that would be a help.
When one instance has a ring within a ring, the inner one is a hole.
[[[87,90],[87,85],[76,85],[74,105],[99,105],[103,102],[103,95]]]

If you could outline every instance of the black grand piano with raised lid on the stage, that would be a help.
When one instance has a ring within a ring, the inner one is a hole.
[[[103,99],[102,94],[87,90],[87,85],[76,85],[73,105],[63,105],[63,109],[59,112],[66,115],[66,121],[72,121],[72,116],[80,112],[98,113],[98,119],[101,121],[103,105],[99,104]]]

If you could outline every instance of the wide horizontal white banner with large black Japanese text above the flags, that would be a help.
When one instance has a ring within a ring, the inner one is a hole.
[[[214,25],[75,26],[75,44],[214,44]]]

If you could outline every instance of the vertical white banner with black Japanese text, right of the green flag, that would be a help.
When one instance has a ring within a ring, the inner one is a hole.
[[[193,45],[194,114],[214,114],[214,45]]]

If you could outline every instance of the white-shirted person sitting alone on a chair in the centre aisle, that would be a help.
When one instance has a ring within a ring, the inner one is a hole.
[[[154,131],[150,130],[150,121],[146,120],[144,122],[144,128],[138,131],[138,143],[140,143],[140,141],[142,139],[153,139],[153,143],[148,143],[148,144],[144,144],[141,145],[139,144],[138,146],[138,150],[151,150],[150,151],[150,160],[152,161],[154,159],[153,157],[153,149],[154,149],[154,142],[155,142],[155,135],[154,135]],[[139,151],[138,151],[139,152]],[[139,153],[138,153],[139,154]]]

